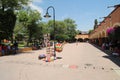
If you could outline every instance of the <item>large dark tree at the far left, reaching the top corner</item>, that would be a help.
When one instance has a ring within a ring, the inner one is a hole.
[[[13,29],[16,23],[14,11],[21,9],[28,2],[29,0],[0,0],[0,30],[4,32],[1,39],[13,39]]]

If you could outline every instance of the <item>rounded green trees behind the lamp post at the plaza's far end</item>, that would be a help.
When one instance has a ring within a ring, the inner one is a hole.
[[[55,30],[53,20],[50,20],[47,24],[47,31],[50,33],[51,39],[55,38],[57,41],[73,41],[77,34],[75,21],[70,18],[55,21]]]

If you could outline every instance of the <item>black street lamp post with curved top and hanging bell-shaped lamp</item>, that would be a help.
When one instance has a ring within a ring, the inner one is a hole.
[[[47,8],[47,11],[46,11],[46,14],[44,15],[44,17],[45,18],[50,18],[51,16],[49,15],[49,13],[48,13],[48,10],[50,9],[50,8],[52,8],[53,9],[53,28],[54,28],[54,30],[53,30],[53,45],[54,45],[54,59],[56,59],[56,52],[55,52],[55,9],[54,9],[54,7],[53,6],[49,6],[48,8]]]

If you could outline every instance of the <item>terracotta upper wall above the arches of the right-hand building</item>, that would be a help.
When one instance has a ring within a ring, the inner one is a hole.
[[[99,34],[101,34],[103,31],[105,32],[108,27],[115,26],[116,23],[120,24],[120,6],[117,7],[115,10],[113,10],[107,18],[104,19],[104,22],[102,22],[98,28],[96,28],[89,36],[92,38],[97,38]],[[101,38],[105,37],[104,35],[101,35]]]

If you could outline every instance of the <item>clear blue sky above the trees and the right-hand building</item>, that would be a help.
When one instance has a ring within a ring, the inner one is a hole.
[[[99,17],[112,12],[114,8],[107,8],[108,6],[116,4],[120,4],[120,0],[33,0],[30,6],[41,12],[42,17],[46,9],[53,6],[56,20],[71,18],[75,20],[78,30],[88,31],[93,29],[95,19],[101,22]],[[49,14],[53,14],[52,9],[49,9]],[[47,20],[43,17],[43,21]]]

